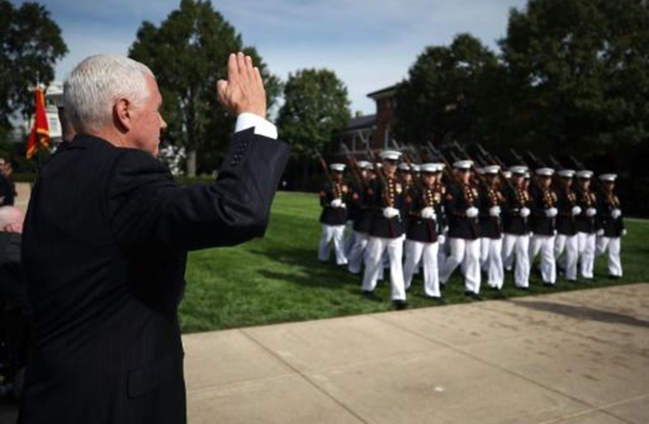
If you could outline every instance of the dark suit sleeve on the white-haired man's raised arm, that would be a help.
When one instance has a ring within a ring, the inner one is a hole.
[[[196,250],[262,237],[289,148],[254,134],[234,135],[216,181],[179,187],[160,161],[125,150],[108,182],[106,213],[126,252]]]

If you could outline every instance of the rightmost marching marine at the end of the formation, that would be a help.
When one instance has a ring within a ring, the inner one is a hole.
[[[620,199],[615,195],[616,174],[600,175],[602,193],[597,196],[597,244],[595,255],[608,252],[608,276],[622,278],[622,259],[620,246],[622,236],[626,235]]]

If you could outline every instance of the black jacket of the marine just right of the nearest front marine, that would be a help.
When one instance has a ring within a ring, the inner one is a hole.
[[[441,203],[441,193],[435,191],[434,188],[421,187],[416,189],[411,187],[408,196],[412,202],[406,207],[408,209],[408,231],[406,232],[406,239],[413,241],[421,241],[426,243],[434,243],[437,241],[437,234],[439,233],[439,223],[437,219],[422,218],[421,210],[424,207],[432,207],[435,209],[435,215],[439,210]],[[437,215],[439,218],[441,215]]]

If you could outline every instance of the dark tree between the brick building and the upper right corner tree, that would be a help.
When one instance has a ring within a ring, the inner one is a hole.
[[[397,89],[397,137],[406,143],[479,139],[500,74],[495,54],[470,34],[448,47],[426,47]]]

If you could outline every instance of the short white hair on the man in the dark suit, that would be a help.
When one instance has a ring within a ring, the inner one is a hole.
[[[149,96],[146,65],[116,54],[84,59],[63,84],[67,118],[77,132],[99,130],[112,123],[113,106],[124,97],[140,104]]]

